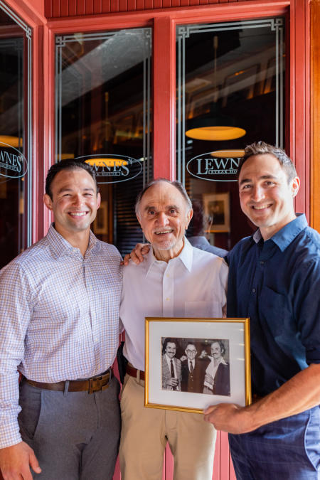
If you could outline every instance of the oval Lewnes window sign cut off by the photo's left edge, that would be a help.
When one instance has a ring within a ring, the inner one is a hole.
[[[9,144],[0,142],[0,176],[21,178],[28,171],[26,157]]]

